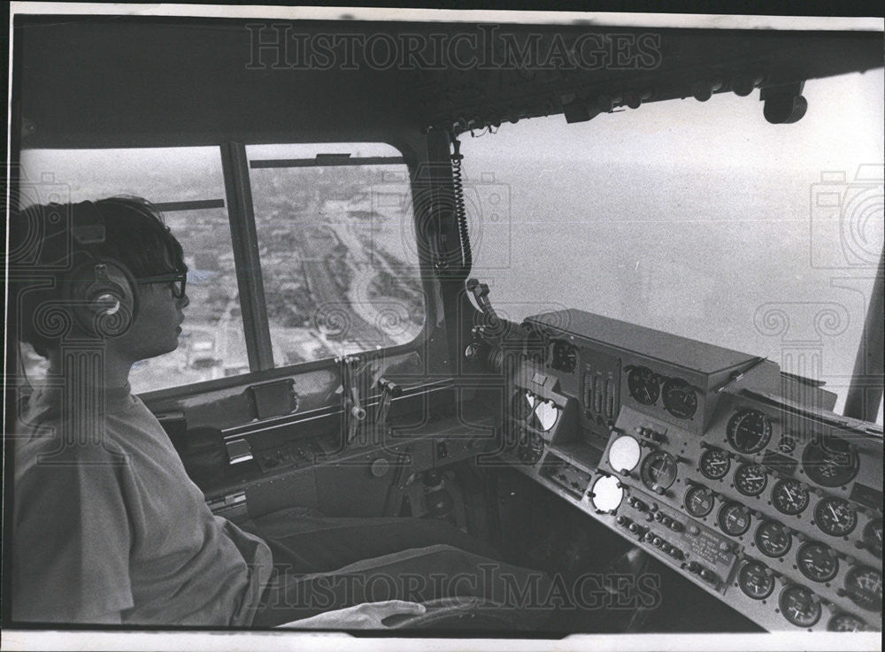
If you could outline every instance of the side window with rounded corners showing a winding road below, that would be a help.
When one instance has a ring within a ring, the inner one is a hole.
[[[402,154],[353,142],[246,153],[274,364],[414,340],[425,308]]]

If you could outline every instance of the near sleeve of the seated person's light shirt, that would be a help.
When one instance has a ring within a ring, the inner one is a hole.
[[[125,457],[72,446],[18,470],[12,533],[12,617],[119,623],[133,606]]]

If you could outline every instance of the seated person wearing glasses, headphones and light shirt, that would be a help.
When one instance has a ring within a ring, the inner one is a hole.
[[[35,265],[20,339],[49,364],[15,439],[15,620],[347,629],[465,596],[536,619],[548,576],[439,520],[212,514],[130,391],[135,362],[176,349],[189,303],[181,244],[150,203],[30,207],[11,251]],[[508,607],[527,587],[535,603]]]

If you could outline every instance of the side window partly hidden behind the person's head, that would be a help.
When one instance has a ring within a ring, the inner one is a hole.
[[[135,392],[249,372],[219,149],[23,150],[21,205],[141,196],[163,213],[188,265],[179,347],[135,363]],[[28,378],[46,371],[26,347]]]

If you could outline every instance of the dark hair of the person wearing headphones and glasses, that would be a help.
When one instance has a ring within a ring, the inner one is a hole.
[[[93,223],[96,211],[104,221],[104,242],[77,242],[73,229]],[[119,260],[136,279],[188,269],[181,243],[157,208],[141,197],[36,204],[13,212],[10,264],[19,276],[33,281],[19,283],[19,338],[42,357],[48,357],[58,338],[36,331],[35,311],[42,303],[60,299],[60,284],[90,257]]]

